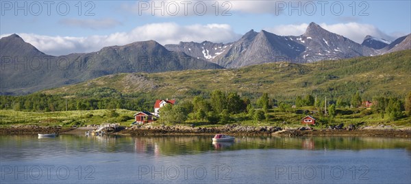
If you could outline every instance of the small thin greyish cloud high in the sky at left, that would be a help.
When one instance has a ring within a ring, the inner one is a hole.
[[[77,18],[64,18],[59,21],[62,25],[69,25],[72,27],[82,27],[88,29],[108,29],[121,25],[121,22],[112,18],[101,19],[77,19]]]

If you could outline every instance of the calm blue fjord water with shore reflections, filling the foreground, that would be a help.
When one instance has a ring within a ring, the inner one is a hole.
[[[411,183],[411,139],[0,136],[0,183]]]

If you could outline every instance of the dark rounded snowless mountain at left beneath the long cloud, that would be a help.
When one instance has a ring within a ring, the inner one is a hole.
[[[217,64],[169,51],[153,40],[92,53],[46,55],[13,34],[0,39],[0,94],[28,94],[115,73],[216,69]]]

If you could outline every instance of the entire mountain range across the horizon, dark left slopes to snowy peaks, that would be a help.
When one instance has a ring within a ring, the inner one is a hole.
[[[229,43],[179,42],[162,46],[155,40],[147,40],[60,56],[42,53],[12,34],[0,38],[0,94],[28,94],[116,73],[241,68],[282,61],[309,63],[406,49],[411,49],[411,34],[382,49],[373,49],[372,45],[358,44],[316,23],[310,23],[301,36],[278,36],[251,29],[236,42]]]

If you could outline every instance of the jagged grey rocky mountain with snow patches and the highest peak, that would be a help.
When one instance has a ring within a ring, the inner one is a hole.
[[[210,42],[207,44],[213,45]],[[197,45],[197,49],[190,49],[194,45]],[[316,23],[310,23],[301,36],[278,36],[264,30],[258,33],[251,30],[236,42],[221,44],[220,47],[226,48],[219,49],[211,57],[203,54],[210,49],[203,48],[202,45],[194,42],[190,42],[190,45],[180,43],[169,45],[167,49],[182,51],[226,68],[280,61],[304,63],[339,60],[378,54],[377,50],[329,32]],[[187,48],[190,50],[187,51]]]

